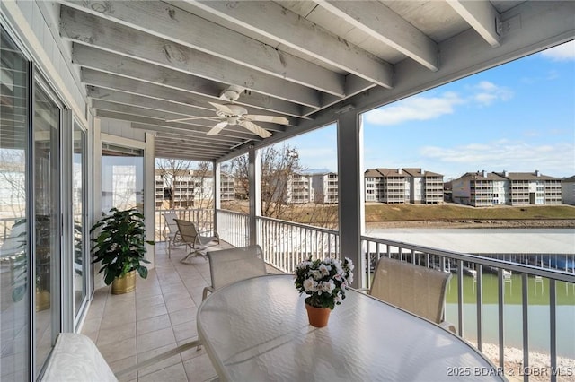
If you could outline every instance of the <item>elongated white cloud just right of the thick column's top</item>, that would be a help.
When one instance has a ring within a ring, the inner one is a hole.
[[[376,125],[399,125],[406,121],[429,120],[452,114],[455,106],[464,103],[455,92],[446,92],[440,97],[414,96],[392,105],[366,113],[368,123]]]

